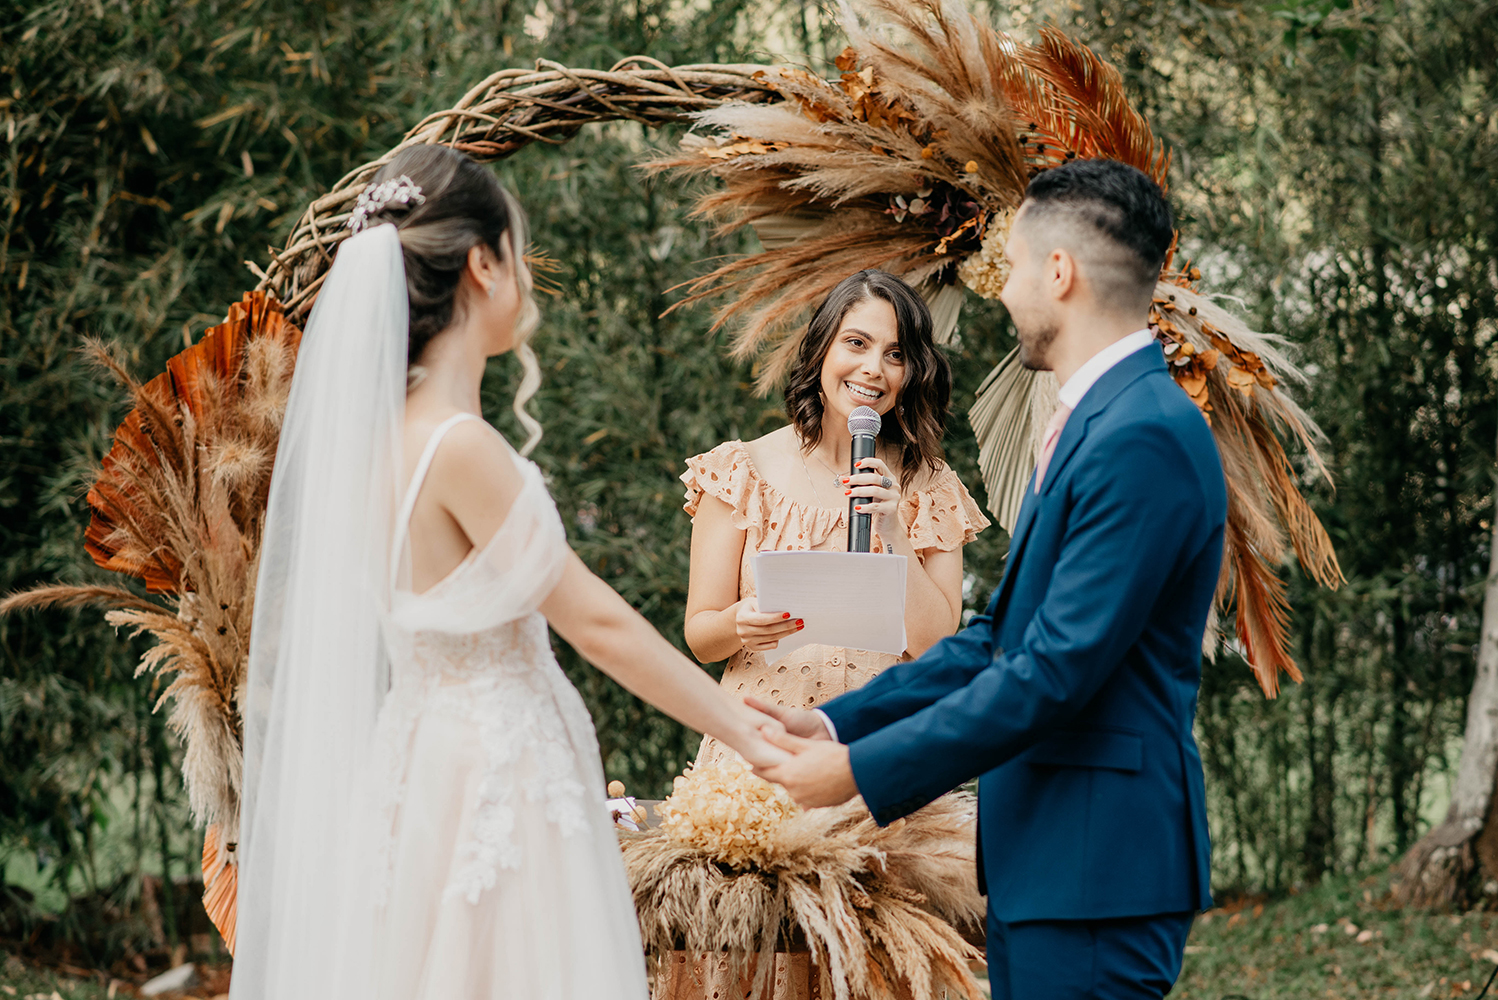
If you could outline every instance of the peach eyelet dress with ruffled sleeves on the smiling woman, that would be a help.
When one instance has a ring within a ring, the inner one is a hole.
[[[753,596],[753,557],[767,551],[848,551],[846,507],[821,507],[791,500],[765,482],[749,458],[743,442],[725,442],[710,452],[689,458],[683,509],[697,516],[704,494],[718,497],[733,509],[733,524],[743,530],[745,551],[739,563],[739,596]],[[911,546],[951,551],[971,542],[989,527],[977,501],[950,469],[921,491],[900,501],[900,524]],[[878,531],[873,548],[882,548]],[[773,653],[771,653],[773,656]],[[900,657],[867,650],[831,645],[803,645],[779,659],[740,650],[724,668],[724,687],[742,695],[758,695],[780,705],[813,708],[870,678]],[[698,760],[719,760],[733,750],[712,737],[703,738]],[[813,975],[804,954],[776,955],[774,1000],[812,1000],[822,994],[821,976]],[[658,1000],[728,1000],[743,997],[746,984],[734,982],[728,960],[718,955],[677,952],[656,978]],[[831,996],[830,993],[827,996]]]

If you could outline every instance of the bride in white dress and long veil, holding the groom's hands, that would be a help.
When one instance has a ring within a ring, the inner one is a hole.
[[[643,1000],[598,741],[547,623],[750,762],[783,753],[583,566],[521,457],[541,427],[515,202],[413,147],[349,225],[271,482],[231,996]],[[508,350],[520,454],[478,416]]]

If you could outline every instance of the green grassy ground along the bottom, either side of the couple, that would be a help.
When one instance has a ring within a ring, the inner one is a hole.
[[[1389,909],[1387,877],[1332,879],[1276,901],[1203,915],[1170,1000],[1476,999],[1498,970],[1498,913]],[[228,990],[226,970],[190,996]],[[135,984],[6,957],[0,1000],[114,1000]],[[181,994],[178,994],[181,996]],[[1498,1000],[1498,982],[1485,1000]]]

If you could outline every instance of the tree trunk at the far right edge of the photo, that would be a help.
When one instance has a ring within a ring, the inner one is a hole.
[[[1498,497],[1483,594],[1477,677],[1467,702],[1462,762],[1446,820],[1422,837],[1395,870],[1402,906],[1470,906],[1498,894]]]

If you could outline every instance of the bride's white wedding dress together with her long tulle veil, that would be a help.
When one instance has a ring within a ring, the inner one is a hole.
[[[532,463],[494,537],[410,591],[412,503],[478,418],[437,428],[403,500],[407,313],[376,226],[301,340],[240,695],[229,996],[644,1000],[598,740],[536,611],[568,548]]]

